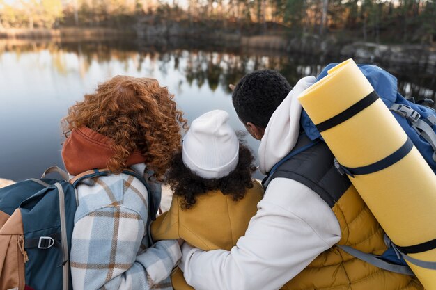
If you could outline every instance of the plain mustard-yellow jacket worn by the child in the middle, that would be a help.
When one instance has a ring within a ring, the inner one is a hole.
[[[158,216],[151,224],[154,241],[183,239],[201,250],[231,250],[245,234],[257,204],[263,198],[263,188],[254,181],[242,200],[234,201],[231,195],[210,191],[196,197],[190,209],[182,209],[182,198],[173,195],[169,211]],[[193,289],[176,268],[171,275],[175,290]]]

